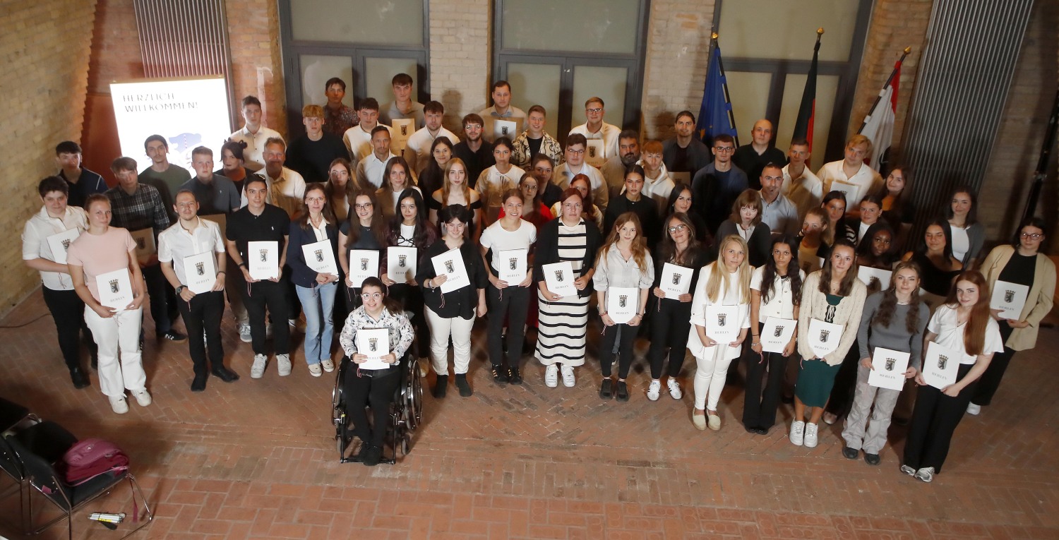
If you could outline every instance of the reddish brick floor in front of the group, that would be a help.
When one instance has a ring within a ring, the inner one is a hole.
[[[1017,357],[997,404],[964,420],[945,473],[927,485],[897,470],[903,428],[891,430],[880,467],[843,458],[838,426],[822,430],[815,449],[791,446],[780,426],[746,433],[738,377],[717,433],[692,427],[690,392],[648,401],[642,362],[628,403],[596,397],[597,365],[579,370],[573,389],[549,389],[527,360],[525,384],[498,388],[484,328],[475,330],[474,396],[427,395],[425,425],[398,465],[343,465],[330,424],[334,377],[310,377],[300,349],[290,377],[270,365],[251,380],[249,344],[226,321],[228,361],[244,378],[211,379],[193,395],[186,345],[148,338],[155,403],[133,401],[118,416],[94,375],[92,389],[69,384],[39,293],[3,324],[28,321],[0,329],[0,394],[128,451],[157,514],[140,538],[1059,538],[1059,452],[1049,450],[1059,443],[1059,374],[1045,353],[1059,347],[1055,329],[1041,332],[1036,354]],[[780,414],[790,417],[786,406]],[[17,506],[0,501],[0,535],[21,538]],[[125,489],[89,511],[130,508]],[[86,516],[75,515],[76,538],[115,538]],[[65,535],[56,526],[40,538]]]

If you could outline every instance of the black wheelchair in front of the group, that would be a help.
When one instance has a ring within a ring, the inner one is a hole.
[[[356,452],[351,452],[353,446],[352,427],[345,411],[344,389],[342,381],[346,370],[356,370],[356,364],[348,356],[342,357],[339,364],[335,389],[331,391],[331,421],[335,425],[335,440],[337,443],[339,463],[360,463]],[[400,361],[400,381],[390,403],[390,425],[387,427],[385,449],[382,461],[393,465],[397,456],[408,455],[412,449],[412,432],[423,422],[423,384],[419,370],[411,354],[406,354]],[[369,419],[373,416],[369,414]]]

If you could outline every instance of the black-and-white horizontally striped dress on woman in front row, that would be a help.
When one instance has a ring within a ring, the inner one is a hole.
[[[579,273],[588,249],[585,220],[574,227],[559,221],[559,260],[569,260],[574,273]],[[564,296],[558,302],[549,302],[540,290],[540,320],[537,337],[537,359],[544,365],[556,362],[568,366],[585,363],[585,342],[589,323],[589,298]]]

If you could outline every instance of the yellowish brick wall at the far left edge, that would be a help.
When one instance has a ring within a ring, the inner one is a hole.
[[[5,14],[0,58],[7,74],[0,78],[7,179],[0,228],[20,235],[40,209],[37,180],[56,170],[55,144],[80,139],[95,2],[3,0],[0,12]],[[17,239],[0,251],[0,313],[40,284],[37,272],[22,264]]]

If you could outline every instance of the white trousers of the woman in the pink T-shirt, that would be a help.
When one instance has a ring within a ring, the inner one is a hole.
[[[137,392],[147,388],[147,374],[143,372],[140,355],[142,320],[143,307],[122,310],[104,319],[85,306],[85,324],[92,330],[92,338],[100,346],[96,373],[100,389],[106,396],[124,396],[126,389]]]

